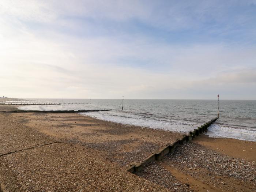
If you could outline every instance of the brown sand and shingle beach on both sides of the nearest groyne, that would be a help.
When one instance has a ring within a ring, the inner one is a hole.
[[[0,113],[1,190],[255,191],[256,142],[202,135],[126,171],[182,136],[76,113]]]

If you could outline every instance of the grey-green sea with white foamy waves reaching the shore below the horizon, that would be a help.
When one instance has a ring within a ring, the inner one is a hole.
[[[30,99],[58,103],[62,99]],[[23,110],[113,109],[107,112],[81,113],[102,120],[140,125],[188,133],[217,117],[216,100],[125,99],[124,110],[118,110],[121,99],[63,99],[78,105],[28,105]],[[211,125],[207,135],[256,141],[256,100],[221,100],[220,118]]]

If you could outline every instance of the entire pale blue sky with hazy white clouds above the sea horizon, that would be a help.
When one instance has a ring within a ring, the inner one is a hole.
[[[1,0],[0,96],[256,99],[256,0]]]

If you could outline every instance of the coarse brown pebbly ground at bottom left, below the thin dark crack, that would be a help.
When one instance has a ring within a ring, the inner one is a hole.
[[[41,189],[58,192],[112,189],[121,192],[146,188],[148,191],[168,191],[110,163],[84,154],[84,150],[69,144],[55,143],[4,155],[0,157],[1,183],[5,185],[7,192],[42,191]]]

